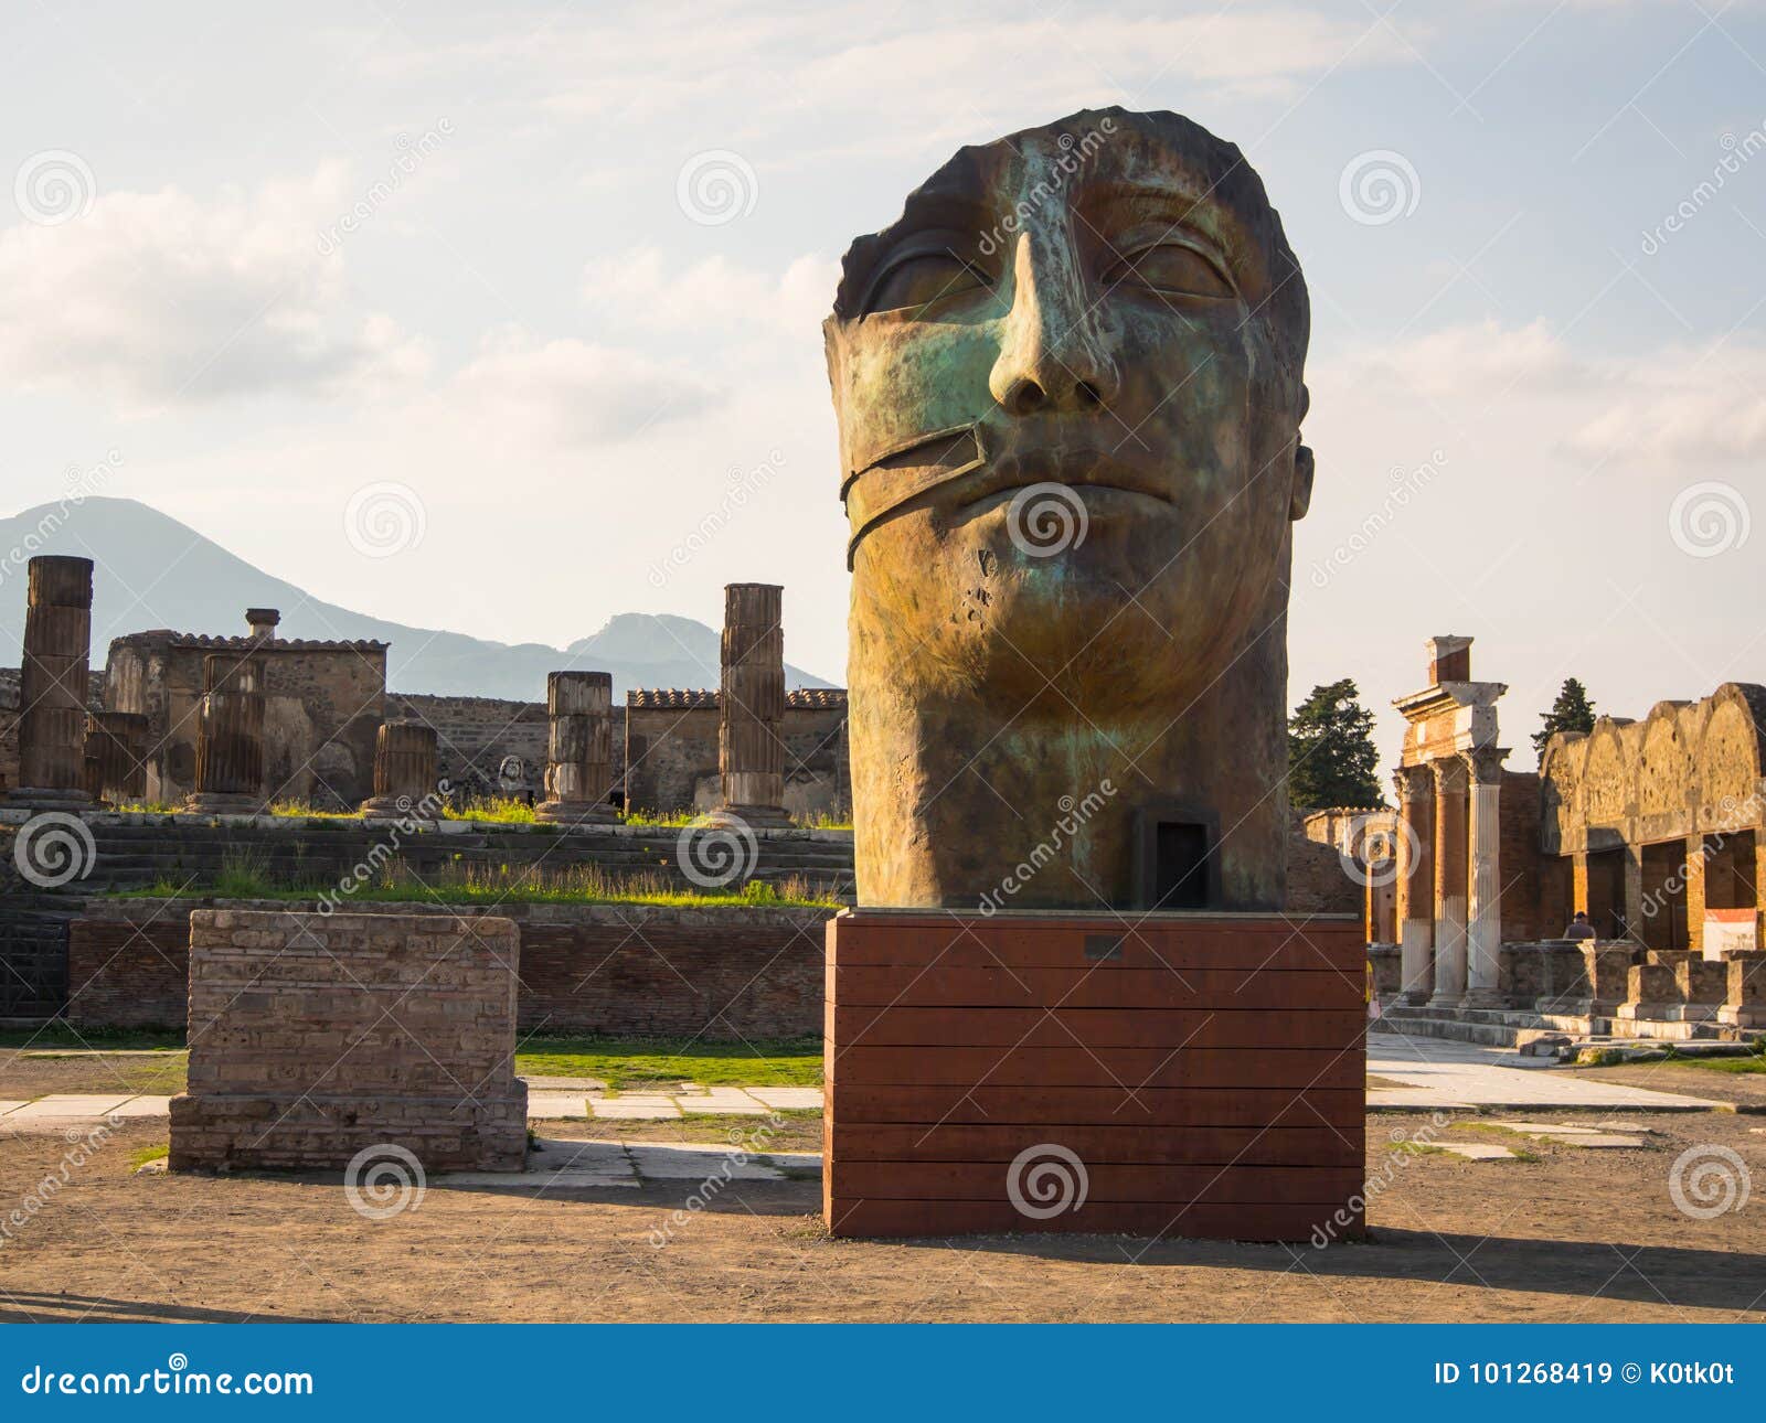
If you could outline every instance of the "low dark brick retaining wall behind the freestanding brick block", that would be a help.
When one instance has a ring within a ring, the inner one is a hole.
[[[192,906],[208,902],[90,902],[69,930],[67,1017],[81,1028],[184,1028]],[[286,913],[291,906],[233,907]],[[442,913],[419,904],[358,909]],[[487,911],[449,906],[445,913]],[[523,1033],[717,1040],[821,1033],[823,923],[834,909],[505,904],[489,913],[521,930]]]

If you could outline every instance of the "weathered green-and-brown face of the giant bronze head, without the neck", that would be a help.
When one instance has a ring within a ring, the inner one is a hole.
[[[1286,606],[1310,491],[1300,282],[1236,150],[1169,115],[964,148],[860,238],[828,369],[892,660],[954,690],[1215,676]]]

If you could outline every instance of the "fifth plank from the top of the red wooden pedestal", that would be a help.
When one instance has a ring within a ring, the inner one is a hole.
[[[1362,1088],[929,1088],[828,1084],[828,1118],[864,1123],[1051,1123],[1084,1126],[1337,1126],[1362,1128]]]

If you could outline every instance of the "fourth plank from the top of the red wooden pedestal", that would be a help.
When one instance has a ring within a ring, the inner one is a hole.
[[[848,1047],[832,1082],[851,1086],[991,1088],[1356,1088],[1362,1040],[1307,1047]]]

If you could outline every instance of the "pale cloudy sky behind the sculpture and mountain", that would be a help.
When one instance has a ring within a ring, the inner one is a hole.
[[[1766,681],[1762,11],[7,5],[0,512],[509,643],[782,583],[839,681],[841,252],[962,143],[1169,108],[1310,288],[1289,703],[1353,676],[1390,757],[1469,634],[1524,770],[1565,676]]]

